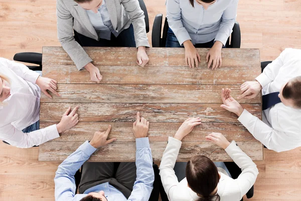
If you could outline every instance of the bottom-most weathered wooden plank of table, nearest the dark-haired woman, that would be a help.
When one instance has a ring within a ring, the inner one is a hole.
[[[63,161],[83,142],[46,142],[40,145],[39,161]],[[260,142],[237,142],[238,146],[252,160],[263,160],[263,147]],[[98,149],[89,161],[135,161],[135,142],[113,142]],[[150,142],[154,161],[160,161],[167,142]],[[126,151],[125,151],[126,149]],[[205,155],[213,161],[231,161],[220,147],[210,142],[183,142],[178,161],[188,161],[194,155]]]

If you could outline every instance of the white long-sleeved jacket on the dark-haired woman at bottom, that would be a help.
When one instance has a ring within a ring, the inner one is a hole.
[[[160,176],[170,201],[194,201],[199,196],[188,187],[186,178],[179,182],[174,171],[181,145],[181,141],[169,137],[159,167]],[[242,172],[237,179],[232,179],[220,172],[221,178],[217,185],[217,193],[220,195],[221,201],[239,201],[255,183],[258,169],[251,158],[236,145],[235,141],[232,141],[225,151]]]

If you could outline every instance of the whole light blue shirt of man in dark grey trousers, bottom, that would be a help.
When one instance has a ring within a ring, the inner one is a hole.
[[[104,191],[104,195],[108,201],[148,201],[155,180],[152,150],[150,150],[148,138],[136,139],[137,177],[128,199],[125,198],[122,192],[110,185],[109,182],[91,187],[84,194],[75,194],[74,175],[95,151],[96,149],[86,141],[59,165],[54,178],[56,201],[78,201],[90,192],[99,192],[101,190]]]

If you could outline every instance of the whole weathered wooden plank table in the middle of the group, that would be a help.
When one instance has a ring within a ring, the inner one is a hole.
[[[95,131],[112,130],[117,138],[100,148],[90,161],[135,161],[135,138],[132,123],[140,111],[149,124],[148,137],[154,161],[160,161],[168,136],[174,136],[190,117],[200,117],[203,124],[183,139],[178,156],[187,161],[196,154],[213,161],[230,161],[224,150],[206,142],[205,136],[219,132],[235,140],[252,160],[263,160],[263,146],[238,121],[233,113],[220,108],[221,89],[239,94],[244,81],[254,80],[261,72],[258,49],[223,49],[223,67],[208,69],[208,49],[198,49],[198,68],[185,65],[184,48],[149,48],[148,65],[136,65],[136,48],[84,48],[99,67],[103,79],[90,81],[86,70],[78,71],[62,47],[43,48],[43,76],[58,81],[62,97],[41,97],[41,128],[58,123],[69,106],[78,110],[80,123],[60,138],[40,145],[40,161],[62,161]],[[261,97],[240,100],[251,114],[261,118]]]

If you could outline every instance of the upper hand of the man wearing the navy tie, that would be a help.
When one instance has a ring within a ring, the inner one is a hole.
[[[262,86],[258,81],[247,81],[240,86],[240,95],[237,99],[241,99],[243,97],[251,99],[258,95],[261,91]]]

